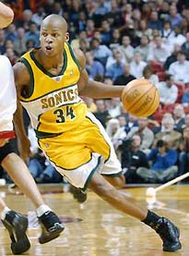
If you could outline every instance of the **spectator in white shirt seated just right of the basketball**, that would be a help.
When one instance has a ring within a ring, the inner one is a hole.
[[[164,81],[157,84],[161,104],[174,104],[178,97],[178,87],[174,84],[173,77],[166,75]]]

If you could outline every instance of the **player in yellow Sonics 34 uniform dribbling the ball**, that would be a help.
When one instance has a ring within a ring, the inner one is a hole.
[[[67,43],[67,24],[61,16],[44,18],[40,40],[41,48],[22,55],[14,71],[19,100],[30,115],[41,150],[72,185],[93,190],[116,209],[151,226],[162,239],[163,250],[179,250],[179,229],[170,220],[143,209],[113,187],[124,185],[121,166],[111,140],[79,97],[120,97],[123,87],[89,80],[85,57]],[[20,136],[27,141],[19,110]],[[27,143],[20,145],[26,157]]]

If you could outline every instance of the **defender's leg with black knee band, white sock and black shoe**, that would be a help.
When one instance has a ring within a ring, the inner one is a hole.
[[[58,216],[42,200],[41,193],[31,177],[27,165],[11,148],[10,142],[0,148],[0,162],[18,188],[30,198],[37,208],[36,212],[42,228],[40,243],[57,238],[64,230],[64,226]]]

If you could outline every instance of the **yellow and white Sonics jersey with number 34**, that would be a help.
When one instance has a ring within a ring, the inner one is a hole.
[[[39,138],[76,128],[84,120],[87,106],[78,96],[79,65],[70,44],[65,43],[64,66],[53,76],[37,61],[31,50],[20,61],[30,72],[30,90],[20,97]]]

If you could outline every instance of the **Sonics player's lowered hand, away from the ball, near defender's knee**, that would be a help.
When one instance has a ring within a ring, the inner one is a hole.
[[[30,160],[30,140],[28,137],[18,139],[18,152],[23,161],[28,163]]]

